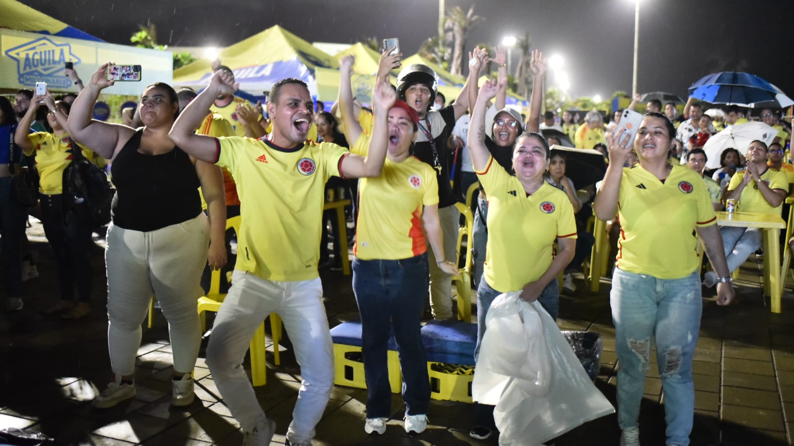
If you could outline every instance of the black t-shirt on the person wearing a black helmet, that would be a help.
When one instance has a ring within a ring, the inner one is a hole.
[[[430,164],[430,167],[434,167],[436,171],[439,208],[453,206],[456,202],[461,201],[449,184],[449,168],[447,167],[449,166],[447,159],[449,151],[446,148],[446,141],[454,127],[455,109],[453,106],[441,110],[430,110],[425,119],[419,120],[419,134],[414,143],[414,156],[423,163]],[[432,136],[435,151],[427,139],[427,133]],[[441,167],[441,172],[437,167]]]

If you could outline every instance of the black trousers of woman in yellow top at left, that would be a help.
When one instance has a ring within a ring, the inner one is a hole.
[[[76,283],[79,302],[91,302],[91,225],[73,212],[64,215],[62,194],[39,194],[39,205],[44,235],[58,263],[60,298],[71,301]]]

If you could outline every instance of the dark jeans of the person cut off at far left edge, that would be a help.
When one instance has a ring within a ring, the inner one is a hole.
[[[0,236],[2,236],[2,271],[6,296],[22,294],[22,238],[25,237],[25,206],[11,198],[11,177],[0,178]]]

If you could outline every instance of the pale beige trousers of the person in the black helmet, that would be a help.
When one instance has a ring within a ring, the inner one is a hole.
[[[457,264],[457,232],[461,228],[461,211],[454,205],[439,208],[438,220],[444,236],[444,260]],[[449,319],[453,317],[452,275],[438,267],[430,240],[427,240],[427,255],[430,263],[430,310],[433,310],[436,319]]]

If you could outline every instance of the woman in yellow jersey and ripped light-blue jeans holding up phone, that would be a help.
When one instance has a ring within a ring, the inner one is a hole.
[[[593,206],[602,220],[617,213],[621,225],[610,295],[620,360],[620,444],[640,444],[640,401],[655,338],[666,444],[686,445],[695,410],[692,353],[703,306],[694,230],[721,278],[717,305],[730,304],[734,290],[706,185],[696,171],[668,160],[676,136],[673,123],[661,113],[647,113],[633,147],[625,134],[623,128],[610,136],[611,163]],[[624,168],[632,150],[639,164]]]

